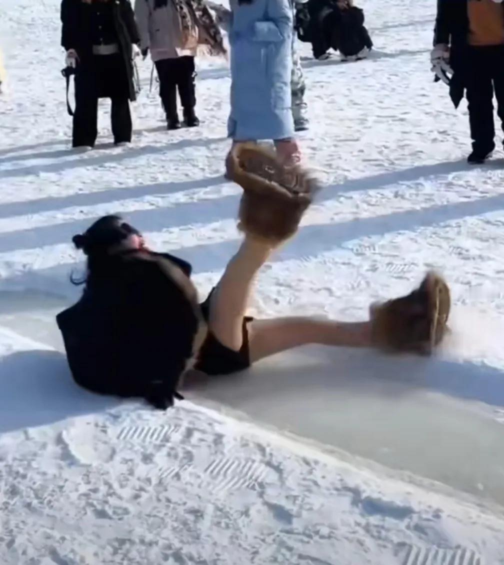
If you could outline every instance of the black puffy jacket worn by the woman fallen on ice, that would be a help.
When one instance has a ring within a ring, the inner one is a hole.
[[[82,298],[58,314],[77,384],[157,407],[172,403],[201,316],[197,296],[188,299],[194,287],[176,284],[173,264],[190,276],[190,264],[169,254],[108,256]]]

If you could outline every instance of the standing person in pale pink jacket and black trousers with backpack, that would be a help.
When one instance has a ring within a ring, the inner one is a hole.
[[[168,129],[181,127],[177,112],[177,88],[184,124],[199,125],[195,114],[194,57],[198,46],[208,54],[225,55],[222,36],[202,0],[136,0],[135,15],[142,55],[150,49],[159,76],[159,96]]]

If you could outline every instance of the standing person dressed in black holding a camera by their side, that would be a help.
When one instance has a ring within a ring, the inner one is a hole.
[[[65,62],[75,69],[72,146],[94,146],[99,98],[111,99],[114,143],[129,143],[132,59],[140,42],[129,0],[62,0],[61,21]]]

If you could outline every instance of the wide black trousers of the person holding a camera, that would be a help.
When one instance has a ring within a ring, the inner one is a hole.
[[[72,146],[93,147],[98,135],[98,99],[111,99],[111,124],[115,143],[132,136],[129,87],[120,55],[96,55],[75,75],[75,112]]]

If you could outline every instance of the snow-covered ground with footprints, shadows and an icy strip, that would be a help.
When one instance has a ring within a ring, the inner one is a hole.
[[[468,168],[434,85],[435,3],[362,0],[375,52],[302,46],[306,159],[327,185],[264,269],[254,314],[360,319],[430,267],[453,289],[436,359],[306,347],[162,414],[73,385],[54,314],[71,236],[123,212],[205,295],[236,249],[223,177],[229,73],[201,61],[202,127],[166,132],[150,65],[134,141],[68,150],[57,0],[0,0],[0,563],[504,563],[502,155]]]

